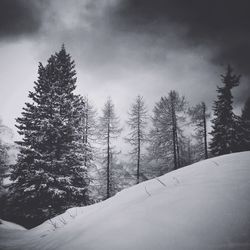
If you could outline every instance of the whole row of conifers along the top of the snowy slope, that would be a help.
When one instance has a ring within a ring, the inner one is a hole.
[[[29,102],[16,119],[19,154],[11,165],[11,183],[1,197],[1,217],[27,227],[74,206],[109,198],[125,186],[165,174],[209,156],[250,150],[250,98],[241,115],[233,112],[232,88],[240,76],[228,66],[210,114],[201,102],[188,107],[172,90],[155,104],[150,117],[142,96],[128,111],[130,163],[119,161],[115,140],[121,135],[111,98],[99,117],[87,97],[75,94],[75,63],[64,46],[46,65]],[[194,127],[192,136],[186,128]],[[1,170],[6,151],[0,143]],[[5,168],[3,167],[5,166]]]

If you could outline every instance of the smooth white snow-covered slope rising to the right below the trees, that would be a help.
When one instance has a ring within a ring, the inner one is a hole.
[[[211,158],[72,208],[0,249],[250,249],[250,152]]]

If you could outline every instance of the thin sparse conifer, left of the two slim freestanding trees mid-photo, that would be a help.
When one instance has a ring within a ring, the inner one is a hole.
[[[112,145],[112,141],[121,133],[119,119],[115,114],[114,104],[110,98],[108,98],[102,110],[102,116],[99,121],[99,132],[100,138],[105,146],[104,163],[106,165],[106,198],[109,198],[111,195],[110,189],[112,185],[110,179],[112,156],[116,153],[115,148]]]

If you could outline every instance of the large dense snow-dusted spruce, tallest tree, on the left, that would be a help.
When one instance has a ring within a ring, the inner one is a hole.
[[[8,209],[12,219],[26,226],[88,203],[82,99],[74,94],[74,68],[64,46],[46,66],[40,63],[30,102],[17,118],[22,140]]]

